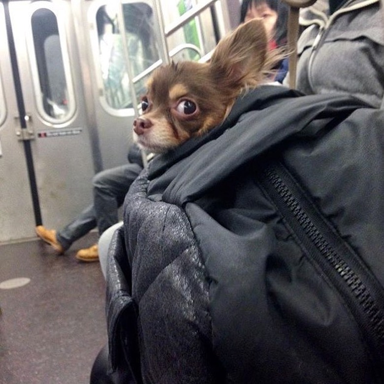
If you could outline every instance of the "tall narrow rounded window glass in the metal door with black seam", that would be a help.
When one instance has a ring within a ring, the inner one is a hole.
[[[57,19],[50,9],[40,8],[33,12],[31,24],[42,107],[51,118],[63,120],[70,100]]]

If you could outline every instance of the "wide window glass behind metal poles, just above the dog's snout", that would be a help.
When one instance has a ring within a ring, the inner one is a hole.
[[[133,76],[159,60],[153,33],[152,8],[143,2],[123,4],[128,59]],[[119,30],[117,9],[101,6],[96,13],[100,67],[104,97],[114,109],[132,106],[127,63]],[[145,79],[135,84],[137,95],[143,93]]]

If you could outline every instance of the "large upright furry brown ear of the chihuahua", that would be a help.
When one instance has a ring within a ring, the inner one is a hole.
[[[241,86],[256,86],[275,62],[268,54],[263,22],[253,19],[220,40],[210,65],[222,80],[241,83]]]

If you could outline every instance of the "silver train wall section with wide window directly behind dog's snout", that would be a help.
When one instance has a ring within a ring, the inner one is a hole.
[[[82,31],[78,33],[81,57],[93,79],[90,88],[100,159],[104,169],[111,168],[127,161],[134,103],[144,93],[148,74],[161,63],[158,35],[153,32],[157,27],[153,4],[149,0],[74,0],[72,6]]]

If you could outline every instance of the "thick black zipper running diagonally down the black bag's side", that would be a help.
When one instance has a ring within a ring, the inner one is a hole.
[[[275,162],[260,173],[265,192],[277,206],[310,259],[320,266],[347,303],[384,377],[384,289],[328,223],[287,168]]]

